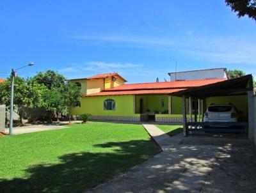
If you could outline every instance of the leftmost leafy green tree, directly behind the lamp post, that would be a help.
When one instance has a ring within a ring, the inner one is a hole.
[[[0,102],[6,104],[7,109],[10,109],[10,88],[10,78],[0,84]],[[26,108],[40,106],[44,89],[45,86],[36,82],[29,82],[21,77],[15,77],[13,111],[19,114],[20,124],[22,124],[22,115]]]

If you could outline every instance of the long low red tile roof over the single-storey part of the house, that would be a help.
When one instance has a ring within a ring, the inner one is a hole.
[[[170,94],[183,89],[204,86],[226,79],[202,79],[193,81],[173,81],[173,82],[149,82],[138,84],[123,84],[115,88],[105,89],[99,93],[82,96],[106,96],[106,95],[145,95],[145,94]]]

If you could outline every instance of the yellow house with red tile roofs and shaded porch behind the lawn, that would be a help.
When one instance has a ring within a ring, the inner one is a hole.
[[[174,96],[174,93],[226,79],[125,84],[127,81],[113,72],[69,81],[81,86],[80,101],[72,108],[74,115],[90,113],[93,120],[182,122],[182,98]],[[239,100],[245,101],[244,97],[246,96],[230,96],[230,99],[226,100],[237,103],[237,108],[243,111],[246,104],[239,103]],[[200,112],[198,117],[202,119],[206,105],[216,100],[221,101],[221,98],[208,98],[204,102],[187,99],[187,112],[190,112],[188,120],[195,112]]]

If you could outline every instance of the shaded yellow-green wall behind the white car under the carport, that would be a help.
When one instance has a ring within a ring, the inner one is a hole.
[[[213,104],[233,104],[237,107],[238,111],[243,113],[238,114],[239,121],[248,121],[248,102],[246,95],[237,96],[215,96],[205,99],[206,107]]]

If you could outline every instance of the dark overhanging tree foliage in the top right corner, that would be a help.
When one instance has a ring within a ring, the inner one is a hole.
[[[248,15],[256,20],[256,0],[225,0],[225,2],[233,12],[237,12],[239,18]]]

